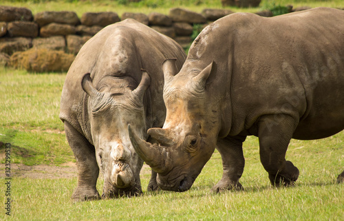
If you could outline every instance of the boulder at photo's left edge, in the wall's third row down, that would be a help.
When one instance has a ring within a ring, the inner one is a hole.
[[[0,38],[0,52],[13,54],[32,48],[32,39],[24,37]]]

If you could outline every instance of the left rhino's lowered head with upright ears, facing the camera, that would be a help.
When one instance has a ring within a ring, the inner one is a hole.
[[[89,96],[91,134],[100,171],[104,176],[103,197],[137,195],[142,193],[140,170],[143,161],[136,154],[127,125],[133,125],[140,138],[146,137],[146,118],[142,99],[151,78],[142,72],[142,80],[136,89],[128,85],[97,90],[89,74],[82,81],[83,90]],[[130,84],[129,84],[130,85]]]

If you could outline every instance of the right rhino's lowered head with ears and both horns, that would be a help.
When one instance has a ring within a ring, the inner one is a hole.
[[[166,120],[162,128],[148,130],[146,142],[129,125],[134,149],[158,173],[161,189],[190,189],[217,143],[219,118],[209,105],[206,82],[214,63],[204,70],[175,75],[173,59],[164,61],[164,103]]]

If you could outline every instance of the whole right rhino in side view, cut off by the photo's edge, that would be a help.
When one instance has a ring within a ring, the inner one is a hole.
[[[272,185],[297,180],[299,169],[285,159],[290,139],[344,128],[343,21],[344,11],[330,8],[272,18],[230,14],[197,36],[179,73],[166,60],[166,120],[148,131],[159,145],[129,126],[158,186],[188,190],[217,147],[224,173],[213,191],[241,189],[242,143],[250,135],[259,138]]]

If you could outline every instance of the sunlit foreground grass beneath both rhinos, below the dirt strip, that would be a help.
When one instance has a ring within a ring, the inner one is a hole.
[[[184,193],[160,191],[136,198],[72,202],[72,179],[12,179],[12,220],[343,220],[344,132],[323,140],[292,140],[287,156],[301,171],[297,185],[271,187],[259,162],[257,138],[244,143],[244,191],[211,193],[222,176],[219,153]],[[141,176],[145,189],[149,175]],[[0,185],[4,192],[4,185]],[[98,181],[98,190],[103,181]],[[100,191],[101,192],[101,191]],[[49,215],[47,215],[49,214]]]

